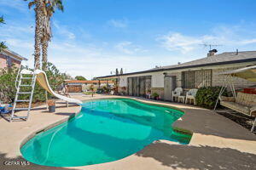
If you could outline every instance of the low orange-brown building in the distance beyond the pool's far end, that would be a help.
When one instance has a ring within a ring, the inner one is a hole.
[[[67,92],[84,92],[90,90],[90,86],[94,88],[108,87],[113,88],[114,82],[108,80],[66,80]]]

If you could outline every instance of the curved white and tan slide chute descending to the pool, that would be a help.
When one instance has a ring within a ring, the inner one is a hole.
[[[67,102],[70,103],[76,103],[76,104],[82,104],[82,101],[79,99],[72,99],[72,98],[68,98],[66,96],[63,96],[61,94],[56,94],[49,86],[49,82],[47,79],[47,76],[45,74],[44,71],[41,70],[36,70],[36,71],[28,71],[26,69],[23,69],[22,71],[20,71],[20,74],[35,74],[35,76],[37,77],[37,82],[38,84],[44,88],[47,92],[49,92],[49,94],[54,95],[56,98],[58,99],[62,99],[65,100]]]

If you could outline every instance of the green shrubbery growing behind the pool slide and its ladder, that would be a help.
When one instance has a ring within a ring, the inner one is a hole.
[[[55,67],[55,65],[48,63],[48,70],[45,71],[50,87],[55,91],[64,82],[66,76]],[[28,69],[28,68],[26,68]],[[0,71],[0,101],[3,103],[13,103],[15,101],[15,79],[17,75],[17,69],[13,68],[9,71]],[[24,84],[31,84],[31,80],[23,80]],[[31,87],[20,87],[22,91],[31,91]],[[22,95],[22,96],[21,96]],[[29,99],[29,94],[21,94],[19,99]],[[48,94],[48,98],[52,99],[53,96]],[[45,90],[36,83],[32,102],[45,101]]]

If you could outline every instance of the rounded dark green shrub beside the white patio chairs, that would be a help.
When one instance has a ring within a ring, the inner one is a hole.
[[[207,109],[213,109],[218,99],[220,88],[221,87],[199,88],[195,96],[196,105]],[[223,95],[227,95],[226,90]]]

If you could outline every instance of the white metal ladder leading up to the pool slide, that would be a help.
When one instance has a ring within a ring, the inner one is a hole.
[[[28,70],[18,71],[18,75],[16,77],[16,82],[15,82],[17,92],[15,95],[15,102],[14,102],[13,110],[11,112],[11,116],[9,118],[9,122],[12,122],[13,120],[17,120],[17,119],[23,119],[23,120],[28,119],[29,113],[31,111],[32,98],[33,98],[36,80],[37,80],[37,75],[35,74],[34,71],[28,71]],[[17,103],[26,104],[26,106],[17,108],[16,107]],[[27,111],[27,113],[26,113],[26,116],[15,116],[15,111]]]

